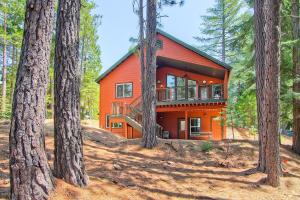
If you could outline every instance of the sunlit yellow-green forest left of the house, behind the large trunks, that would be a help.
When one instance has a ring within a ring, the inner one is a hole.
[[[80,67],[81,67],[81,118],[98,117],[99,95],[95,79],[101,70],[101,50],[97,41],[96,28],[101,24],[101,16],[93,13],[94,1],[81,1],[80,19]],[[13,98],[16,71],[19,63],[25,14],[25,0],[2,0],[0,2],[0,66],[1,66],[1,111],[0,118],[9,119]],[[54,22],[56,23],[56,22]],[[54,110],[54,49],[55,32],[51,47],[51,64],[47,90],[47,118],[53,117]],[[6,78],[5,78],[6,77]],[[6,84],[3,84],[4,81]]]

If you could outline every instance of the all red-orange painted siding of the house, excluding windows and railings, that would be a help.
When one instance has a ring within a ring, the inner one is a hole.
[[[197,82],[197,88],[203,81],[208,84],[223,84],[224,98],[228,97],[228,79],[229,70],[220,66],[216,62],[203,57],[194,51],[178,44],[161,34],[158,34],[158,39],[163,42],[163,48],[157,51],[157,56],[170,58],[173,60],[183,61],[186,63],[193,63],[199,66],[206,66],[216,70],[224,71],[224,78],[218,79],[214,77],[205,76],[198,73],[193,73],[185,70],[180,70],[172,66],[160,66],[157,69],[157,88],[166,87],[166,76],[168,74],[178,77],[187,77],[188,79]],[[133,95],[131,98],[116,98],[115,86],[117,83],[132,83]],[[113,122],[123,123],[122,128],[106,128],[106,115],[112,113],[112,103],[122,102],[130,104],[136,98],[141,96],[141,79],[140,79],[140,65],[139,58],[136,54],[130,55],[115,69],[108,73],[99,81],[100,84],[100,104],[99,104],[99,126],[107,129],[112,133],[118,134],[126,138],[139,138],[141,133],[126,123],[124,118],[112,118],[110,124]],[[198,93],[198,90],[196,91]],[[226,127],[221,119],[225,119],[224,104],[209,104],[209,105],[192,105],[192,106],[167,106],[157,107],[157,123],[163,127],[164,130],[169,131],[170,138],[179,138],[178,136],[178,120],[186,120],[186,132],[189,131],[187,120],[191,117],[201,118],[201,131],[211,132],[213,140],[221,140],[226,137]],[[222,113],[222,117],[221,117]],[[208,136],[191,137],[186,133],[186,139],[208,139]]]

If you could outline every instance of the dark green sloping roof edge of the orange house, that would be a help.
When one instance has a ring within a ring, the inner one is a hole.
[[[203,52],[203,51],[200,51],[199,49],[193,47],[192,45],[189,45],[189,44],[183,42],[182,40],[179,40],[178,38],[176,38],[176,37],[170,35],[169,33],[165,32],[165,31],[163,31],[163,30],[161,30],[161,29],[157,29],[157,33],[159,33],[159,34],[165,36],[166,38],[168,38],[168,39],[170,39],[170,40],[172,40],[172,41],[174,41],[174,42],[176,42],[176,43],[182,45],[183,47],[185,47],[185,48],[187,48],[187,49],[189,49],[189,50],[191,50],[191,51],[197,53],[198,55],[203,56],[203,57],[205,57],[205,58],[207,58],[207,59],[213,61],[214,63],[216,63],[216,64],[218,64],[218,65],[224,67],[224,68],[227,69],[227,70],[231,70],[231,68],[232,68],[230,65],[228,65],[228,64],[226,64],[226,63],[224,63],[224,62],[222,62],[222,61],[220,61],[220,60],[218,60],[218,59],[216,59],[216,58],[214,58],[214,57],[208,55],[207,53],[205,53],[205,52]],[[124,62],[127,58],[129,58],[132,54],[134,54],[134,53],[136,52],[136,49],[137,49],[137,48],[138,48],[138,45],[136,45],[134,48],[132,48],[131,50],[129,50],[129,51],[128,51],[122,58],[120,58],[115,64],[113,64],[110,68],[108,68],[105,72],[103,72],[103,73],[96,79],[96,82],[99,83],[99,81],[100,81],[101,79],[103,79],[105,76],[107,76],[110,72],[112,72],[115,68],[117,68],[122,62]]]

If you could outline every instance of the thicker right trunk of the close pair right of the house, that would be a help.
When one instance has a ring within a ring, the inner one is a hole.
[[[265,14],[265,116],[267,182],[277,187],[281,175],[279,157],[280,0],[266,0]]]

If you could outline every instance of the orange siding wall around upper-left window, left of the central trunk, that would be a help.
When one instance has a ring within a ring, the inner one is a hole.
[[[105,115],[111,113],[112,102],[129,104],[141,95],[140,76],[139,59],[133,54],[100,81],[100,128],[105,128]],[[126,82],[133,83],[132,98],[116,98],[115,85]]]

